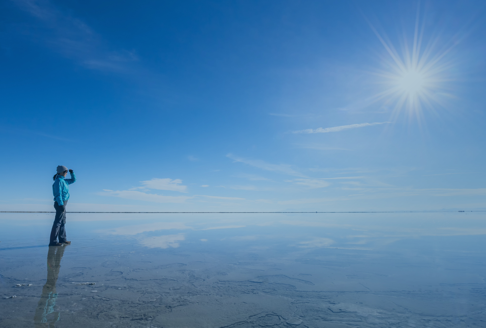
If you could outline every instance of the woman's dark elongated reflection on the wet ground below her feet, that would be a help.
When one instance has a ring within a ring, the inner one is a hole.
[[[49,247],[47,253],[47,281],[42,287],[42,295],[34,314],[35,327],[54,327],[54,323],[59,320],[60,313],[54,311],[57,293],[56,282],[61,267],[61,259],[64,254],[64,247]]]

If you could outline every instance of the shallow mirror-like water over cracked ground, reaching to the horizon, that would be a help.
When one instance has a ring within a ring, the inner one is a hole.
[[[48,247],[52,221],[0,213],[1,328],[486,320],[484,212],[68,213]]]

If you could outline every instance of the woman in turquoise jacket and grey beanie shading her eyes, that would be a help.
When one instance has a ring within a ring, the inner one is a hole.
[[[76,182],[76,175],[74,175],[72,170],[69,170],[71,178],[65,179],[66,174],[68,174],[68,168],[64,165],[59,165],[57,167],[57,173],[52,177],[54,180],[52,193],[54,194],[56,216],[54,218],[54,224],[52,224],[49,246],[60,246],[71,243],[66,240],[66,229],[64,225],[66,224],[66,204],[69,199],[69,185]],[[59,242],[57,242],[57,238],[59,238]]]

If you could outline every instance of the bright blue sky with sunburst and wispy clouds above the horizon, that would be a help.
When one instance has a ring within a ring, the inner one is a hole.
[[[486,207],[484,1],[0,6],[1,210]]]

